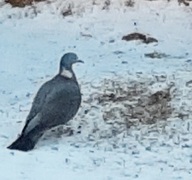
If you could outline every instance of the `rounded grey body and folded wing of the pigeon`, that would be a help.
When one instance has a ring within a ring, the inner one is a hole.
[[[81,101],[76,83],[64,83],[55,79],[45,83],[38,91],[27,117],[23,133],[36,126],[48,129],[65,124],[77,112]]]

